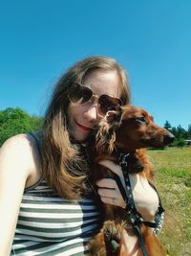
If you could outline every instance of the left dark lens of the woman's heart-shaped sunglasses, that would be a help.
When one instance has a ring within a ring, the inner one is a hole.
[[[93,96],[90,88],[78,83],[74,84],[73,90],[69,92],[69,99],[72,103],[82,105],[87,103]]]

